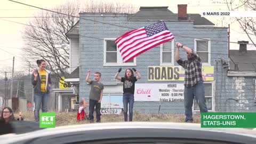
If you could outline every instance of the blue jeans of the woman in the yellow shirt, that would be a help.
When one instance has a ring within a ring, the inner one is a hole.
[[[39,111],[41,109],[41,103],[42,103],[42,112],[47,112],[47,102],[49,99],[49,93],[34,93],[34,102],[35,102],[35,110],[34,110],[34,116],[36,122],[39,122]]]

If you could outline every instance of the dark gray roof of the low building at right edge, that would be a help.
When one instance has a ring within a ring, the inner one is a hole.
[[[239,50],[230,50],[230,58],[238,64],[239,71],[256,71],[256,51],[247,50],[247,53]],[[230,60],[230,70],[234,70],[235,65]]]

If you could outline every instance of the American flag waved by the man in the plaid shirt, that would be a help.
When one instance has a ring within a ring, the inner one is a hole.
[[[116,38],[116,45],[124,62],[132,60],[137,55],[173,39],[171,31],[164,22],[134,29]]]

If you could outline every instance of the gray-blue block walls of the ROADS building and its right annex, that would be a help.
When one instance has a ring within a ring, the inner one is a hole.
[[[91,18],[92,16],[96,16]],[[108,17],[99,17],[100,14],[81,13],[81,17],[87,17],[94,21],[101,21],[111,23],[113,25],[123,26],[111,26],[105,25],[99,22],[93,22],[85,19],[80,19],[79,34],[81,47],[80,51],[80,90],[79,95],[89,99],[90,87],[85,82],[87,70],[92,69],[92,72],[101,72],[101,82],[103,84],[116,83],[114,75],[119,67],[123,70],[119,76],[123,76],[125,66],[103,66],[103,49],[104,38],[117,38],[125,32],[131,30],[129,28],[137,29],[156,21],[127,21],[126,15],[122,14],[107,14]],[[88,17],[90,16],[90,17]],[[210,38],[211,40],[211,66],[214,66],[214,98],[215,111],[228,111],[233,108],[235,111],[255,111],[255,105],[253,104],[253,93],[247,86],[253,87],[252,78],[236,78],[227,77],[227,68],[223,69],[222,61],[228,61],[228,36],[227,28],[199,28],[194,27],[193,21],[165,21],[167,28],[172,32],[175,40],[186,46],[194,49],[195,38]],[[129,28],[124,28],[129,27]],[[90,38],[90,37],[95,38]],[[99,39],[96,39],[99,38]],[[174,48],[175,49],[175,48]],[[175,50],[174,50],[175,52]],[[186,53],[183,50],[180,51],[180,57],[186,59]],[[140,74],[141,79],[137,83],[183,83],[183,81],[170,81],[170,82],[149,82],[148,78],[148,66],[160,66],[160,49],[159,46],[148,50],[137,57],[136,68]],[[174,62],[175,66],[178,66],[177,62]],[[90,78],[93,78],[91,75]],[[225,79],[225,80],[224,80]],[[255,79],[255,78],[254,78]],[[245,83],[245,84],[244,84]],[[254,84],[255,85],[255,84]],[[226,87],[225,87],[226,86]],[[241,90],[243,89],[243,90]],[[122,92],[122,89],[117,90]],[[229,96],[227,96],[229,95]],[[246,97],[246,99],[245,99]],[[234,102],[231,99],[227,101],[227,98],[239,99],[238,102]],[[247,101],[246,101],[247,100]],[[230,105],[230,106],[229,106]],[[159,110],[159,107],[160,110]],[[160,102],[160,101],[135,101],[134,110],[144,113],[184,113],[183,102]]]

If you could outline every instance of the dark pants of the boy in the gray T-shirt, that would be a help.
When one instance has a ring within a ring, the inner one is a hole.
[[[89,101],[89,120],[90,120],[90,122],[94,121],[94,117],[93,117],[94,107],[95,107],[96,118],[97,118],[96,122],[100,122],[101,114],[100,114],[100,103],[98,102],[98,100],[90,99],[90,101]]]

